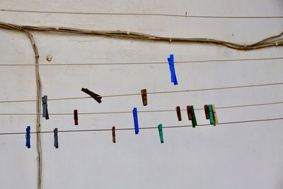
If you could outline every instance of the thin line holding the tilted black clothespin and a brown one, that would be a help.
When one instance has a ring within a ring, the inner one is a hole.
[[[258,87],[258,86],[277,86],[282,85],[283,82],[280,83],[272,83],[272,84],[256,84],[256,85],[246,85],[246,86],[226,86],[219,88],[200,88],[200,89],[192,89],[192,90],[182,90],[182,91],[159,91],[159,92],[149,92],[147,94],[161,94],[161,93],[187,93],[187,92],[196,92],[196,91],[215,91],[215,90],[224,90],[224,89],[232,89],[232,88],[249,88],[249,87]],[[101,96],[102,98],[110,98],[110,97],[121,97],[121,96],[139,96],[140,93],[129,93],[129,94],[117,94],[117,95],[107,95]],[[85,99],[91,98],[91,96],[85,97],[70,97],[70,98],[50,98],[48,101],[61,101],[61,100],[75,100],[75,99]],[[14,100],[14,101],[0,101],[0,103],[23,103],[23,102],[36,102],[37,100]]]

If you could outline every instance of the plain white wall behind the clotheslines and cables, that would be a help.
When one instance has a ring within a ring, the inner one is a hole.
[[[34,11],[180,13],[212,16],[273,16],[283,14],[282,0],[238,1],[8,1],[0,8]],[[21,25],[58,25],[93,30],[130,30],[168,37],[216,38],[252,43],[283,29],[283,19],[204,19],[162,16],[93,16],[0,11],[0,20]],[[35,33],[40,64],[151,62],[198,59],[280,57],[282,47],[240,52],[215,45],[119,40],[96,36]],[[34,62],[32,47],[23,33],[0,30],[1,64]],[[52,55],[51,62],[46,61]],[[49,98],[85,96],[81,87],[101,95],[174,91],[283,81],[282,60],[255,62],[207,62],[175,65],[178,86],[170,81],[167,64],[81,67],[40,67],[42,94]],[[34,67],[1,67],[0,100],[35,99]],[[282,101],[282,86],[226,91],[171,93],[141,96],[49,101],[50,113],[168,110],[176,105],[206,103],[217,106]],[[282,117],[282,105],[218,110],[219,122]],[[0,113],[35,113],[35,103],[1,103]],[[197,111],[199,124],[207,123]],[[1,115],[0,132],[35,131],[35,116]],[[178,122],[172,113],[139,113],[141,127],[187,125],[185,113]],[[42,131],[134,127],[132,114],[50,115]],[[164,144],[158,130],[59,133],[59,149],[53,134],[42,134],[42,188],[283,188],[282,121],[250,122],[217,127],[164,129]],[[24,135],[0,136],[0,188],[37,187],[35,134],[31,149]]]

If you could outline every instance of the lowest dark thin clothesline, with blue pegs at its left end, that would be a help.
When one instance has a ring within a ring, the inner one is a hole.
[[[220,122],[218,125],[229,125],[229,124],[239,124],[245,122],[267,122],[267,121],[275,121],[275,120],[283,120],[283,118],[270,118],[270,119],[262,119],[262,120],[243,120],[243,121],[235,121],[235,122]],[[211,126],[209,124],[197,125],[198,126]],[[192,127],[192,125],[171,125],[171,126],[163,126],[164,129],[171,128],[180,128],[180,127]],[[156,130],[157,127],[139,127],[140,130]],[[117,128],[115,130],[134,130],[133,127],[130,128]],[[112,131],[110,129],[93,129],[93,130],[58,130],[58,132],[103,132],[103,131]],[[30,134],[37,133],[53,133],[54,131],[41,131],[41,132],[30,132]],[[11,135],[11,134],[26,134],[25,132],[1,132],[0,135]]]

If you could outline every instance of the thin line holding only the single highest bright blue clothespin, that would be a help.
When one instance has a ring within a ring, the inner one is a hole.
[[[189,64],[201,62],[238,62],[238,61],[255,61],[255,60],[272,60],[283,59],[283,57],[267,57],[253,59],[204,59],[204,60],[188,60],[176,61],[175,64]],[[113,62],[113,63],[64,63],[64,64],[38,64],[39,66],[98,66],[98,65],[139,65],[139,64],[168,64],[168,62]],[[21,67],[21,66],[36,66],[37,64],[0,64],[0,67]]]

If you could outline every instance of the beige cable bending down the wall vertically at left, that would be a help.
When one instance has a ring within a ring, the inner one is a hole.
[[[1,26],[0,26],[1,27]],[[42,148],[41,148],[41,139],[40,139],[40,108],[41,108],[41,80],[40,80],[40,73],[39,73],[39,67],[38,67],[38,59],[39,54],[37,50],[37,46],[35,45],[35,40],[33,38],[33,35],[28,31],[25,30],[25,28],[22,28],[18,25],[6,25],[7,28],[13,29],[13,30],[20,30],[23,31],[26,35],[28,35],[28,38],[30,39],[31,45],[33,46],[33,52],[35,53],[35,77],[36,77],[36,147],[37,147],[37,188],[41,189],[41,178],[42,178]]]

